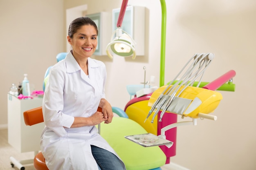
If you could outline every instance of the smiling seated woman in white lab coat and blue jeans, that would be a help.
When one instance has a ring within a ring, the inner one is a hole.
[[[126,169],[95,127],[111,123],[113,117],[104,93],[106,66],[90,58],[97,35],[90,18],[72,21],[67,36],[72,50],[49,73],[43,98],[46,127],[40,142],[49,170]]]

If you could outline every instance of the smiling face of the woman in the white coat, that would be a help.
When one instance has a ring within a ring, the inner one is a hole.
[[[92,25],[81,26],[67,41],[72,45],[74,57],[90,57],[96,50],[98,40],[97,31]]]

